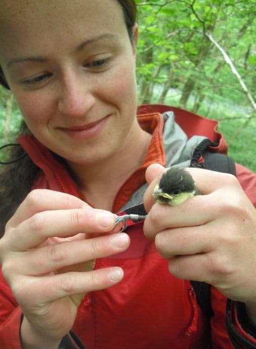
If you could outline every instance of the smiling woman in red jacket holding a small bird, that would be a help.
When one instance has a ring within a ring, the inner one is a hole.
[[[2,175],[2,347],[82,347],[74,330],[87,348],[233,348],[226,297],[244,304],[229,308],[233,342],[254,347],[256,218],[244,191],[255,203],[255,176],[237,165],[243,191],[234,176],[189,169],[204,195],[153,203],[164,166],[189,166],[183,150],[202,139],[174,142],[166,162],[165,119],[136,117],[135,3],[4,0],[0,23],[2,83],[29,130],[26,184]],[[18,176],[17,164],[6,171]],[[116,234],[114,213],[144,191],[144,228]],[[211,335],[192,279],[214,286]]]

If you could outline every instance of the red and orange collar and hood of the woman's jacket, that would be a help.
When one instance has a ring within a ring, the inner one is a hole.
[[[147,108],[150,108],[151,112],[148,112],[149,110]],[[216,131],[217,121],[204,119],[196,114],[162,105],[139,107],[138,120],[141,128],[152,134],[152,139],[144,163],[129,178],[127,178],[120,187],[113,203],[113,212],[118,212],[125,203],[130,200],[133,194],[136,193],[136,191],[145,183],[145,172],[150,164],[158,163],[163,166],[167,165],[163,139],[165,136],[165,133],[163,136],[165,123],[163,116],[159,112],[165,113],[165,111],[168,110],[175,112],[175,121],[185,132],[188,140],[193,135],[203,136],[203,138],[207,137],[218,143],[215,151],[222,153],[227,152],[227,144],[225,140],[222,135]],[[35,139],[33,135],[19,137],[18,141],[31,160],[42,170],[34,184],[34,188],[49,188],[55,191],[75,195],[86,201],[84,194],[71,178],[67,168],[63,164],[60,164],[53,156],[52,152]]]

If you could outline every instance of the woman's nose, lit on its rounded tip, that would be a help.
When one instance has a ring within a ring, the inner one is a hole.
[[[69,76],[62,82],[58,110],[70,117],[83,117],[95,103],[91,85],[78,76]]]

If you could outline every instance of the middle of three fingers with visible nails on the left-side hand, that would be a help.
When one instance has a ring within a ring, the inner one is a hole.
[[[92,239],[69,241],[44,246],[25,252],[9,261],[8,273],[38,276],[64,267],[105,258],[129,247],[130,238],[125,233]],[[6,266],[7,268],[7,266]],[[5,269],[6,269],[5,268]]]

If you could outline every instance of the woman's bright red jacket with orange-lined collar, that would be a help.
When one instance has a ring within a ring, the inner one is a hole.
[[[166,111],[165,106],[150,108]],[[139,109],[139,121],[144,130],[152,133],[149,151],[141,168],[120,188],[113,212],[118,212],[145,182],[145,170],[151,163],[166,165],[162,141],[163,118],[157,112],[148,114],[147,109],[147,106]],[[188,138],[195,134],[204,135],[218,143],[216,151],[227,152],[225,140],[216,131],[216,121],[177,108],[171,109]],[[25,136],[19,141],[42,169],[34,187],[50,188],[86,200],[67,170],[33,136]],[[237,164],[236,171],[245,193],[256,205],[256,176]],[[112,288],[86,295],[78,308],[74,332],[87,349],[210,348],[206,321],[190,282],[177,279],[169,273],[168,262],[156,251],[154,243],[145,238],[142,226],[143,223],[137,223],[127,229],[131,238],[129,249],[96,261],[95,268],[120,266],[124,270],[124,278]],[[214,316],[211,320],[211,338],[214,349],[234,348],[226,331],[226,301],[212,288]],[[256,340],[238,323],[235,307],[229,316],[233,330],[242,340],[251,343],[251,348],[256,347]],[[20,319],[21,310],[0,273],[0,347],[20,349]],[[241,344],[239,347],[242,349],[247,346]]]

